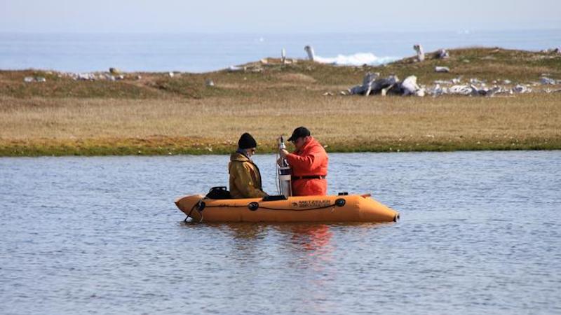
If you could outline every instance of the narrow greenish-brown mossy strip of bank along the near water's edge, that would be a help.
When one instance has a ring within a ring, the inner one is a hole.
[[[182,139],[175,139],[182,140]],[[184,139],[189,141],[189,139]],[[107,141],[107,140],[106,140]],[[119,145],[111,145],[111,141],[15,141],[6,145],[0,144],[0,158],[3,157],[39,157],[39,156],[127,156],[127,155],[229,155],[236,151],[232,144],[201,143],[196,145],[181,144],[163,145],[170,139],[154,141],[154,144],[142,144],[139,139],[120,139]],[[319,139],[322,143],[321,139]],[[323,144],[323,143],[322,143]],[[405,152],[454,152],[454,151],[557,151],[561,150],[561,139],[525,139],[522,141],[493,141],[492,139],[452,143],[431,141],[423,144],[410,141],[395,141],[377,144],[323,144],[327,153],[405,153]],[[292,149],[291,146],[289,146]],[[259,143],[257,153],[275,153],[276,144]]]

